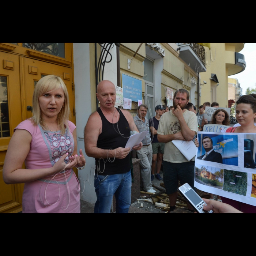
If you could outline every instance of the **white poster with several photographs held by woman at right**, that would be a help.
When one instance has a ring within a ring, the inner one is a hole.
[[[198,133],[195,187],[256,206],[256,134]]]

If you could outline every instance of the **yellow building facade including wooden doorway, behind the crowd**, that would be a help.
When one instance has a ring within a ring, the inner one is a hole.
[[[96,87],[102,79],[117,86],[122,86],[122,74],[142,81],[142,100],[151,109],[148,117],[155,115],[156,105],[167,105],[167,98],[170,104],[170,92],[180,88],[189,91],[190,102],[197,107],[211,101],[211,87],[215,86],[216,100],[226,106],[227,76],[241,71],[234,56],[244,43],[211,45],[217,56],[207,67],[205,52],[209,50],[197,43],[0,43],[0,213],[22,209],[23,184],[4,184],[2,169],[14,128],[33,115],[32,95],[39,79],[58,75],[64,80],[70,98],[70,120],[77,127],[78,147],[84,150],[84,127],[99,106]],[[243,62],[241,56],[239,59]],[[219,79],[218,87],[211,80],[212,73]],[[200,99],[198,89],[203,80],[207,84],[202,86]],[[137,113],[135,103],[130,110],[133,115]],[[76,174],[85,181],[89,178],[92,185],[86,182],[81,199],[95,203],[94,180],[90,180],[95,160],[86,156],[86,162],[86,169]]]

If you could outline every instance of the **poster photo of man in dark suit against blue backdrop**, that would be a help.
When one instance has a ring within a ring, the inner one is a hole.
[[[197,159],[238,166],[237,135],[202,133],[198,134],[198,142]]]

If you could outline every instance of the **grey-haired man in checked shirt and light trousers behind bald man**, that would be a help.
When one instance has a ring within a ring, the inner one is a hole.
[[[138,115],[134,117],[134,122],[139,132],[149,131],[148,135],[142,140],[143,147],[140,151],[137,151],[137,155],[140,161],[143,190],[148,193],[155,193],[151,183],[151,165],[153,158],[153,149],[150,138],[149,123],[146,118],[148,106],[140,105],[138,108]]]

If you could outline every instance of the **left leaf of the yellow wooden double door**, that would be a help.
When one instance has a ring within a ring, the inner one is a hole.
[[[23,184],[6,185],[3,181],[5,154],[13,130],[22,122],[20,91],[20,57],[0,54],[0,212],[22,210]],[[15,158],[15,157],[14,157]]]

